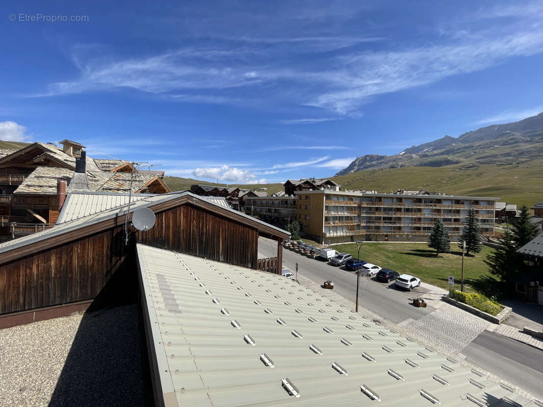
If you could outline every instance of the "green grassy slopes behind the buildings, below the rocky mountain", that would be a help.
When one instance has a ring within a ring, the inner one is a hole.
[[[543,161],[508,166],[455,164],[445,167],[389,168],[376,170],[375,176],[371,170],[363,170],[331,179],[339,183],[342,189],[377,190],[381,193],[396,189],[426,189],[454,195],[500,198],[528,207],[543,200]],[[178,177],[165,177],[165,181],[172,190],[186,189],[187,185],[190,188],[192,183],[214,185]],[[235,186],[248,189],[266,187],[268,194],[283,190],[280,183]]]

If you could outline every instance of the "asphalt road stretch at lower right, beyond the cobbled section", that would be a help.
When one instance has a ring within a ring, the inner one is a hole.
[[[543,399],[543,352],[484,330],[462,351],[466,360],[538,395]]]

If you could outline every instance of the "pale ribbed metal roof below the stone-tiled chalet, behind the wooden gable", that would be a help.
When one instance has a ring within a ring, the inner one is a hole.
[[[155,196],[150,194],[132,194],[131,202]],[[129,194],[108,194],[99,192],[73,192],[66,196],[66,201],[62,205],[59,219],[56,224],[83,218],[107,209],[128,204]]]

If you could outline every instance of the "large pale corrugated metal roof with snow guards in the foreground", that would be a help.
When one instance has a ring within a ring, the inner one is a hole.
[[[167,405],[534,405],[290,279],[137,252]]]

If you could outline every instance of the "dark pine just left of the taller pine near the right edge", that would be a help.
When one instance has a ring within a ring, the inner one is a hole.
[[[496,247],[494,253],[489,253],[484,260],[489,266],[489,271],[502,280],[507,281],[519,271],[522,258],[516,250],[519,246],[515,242],[515,236],[509,228],[503,233],[501,245]]]

